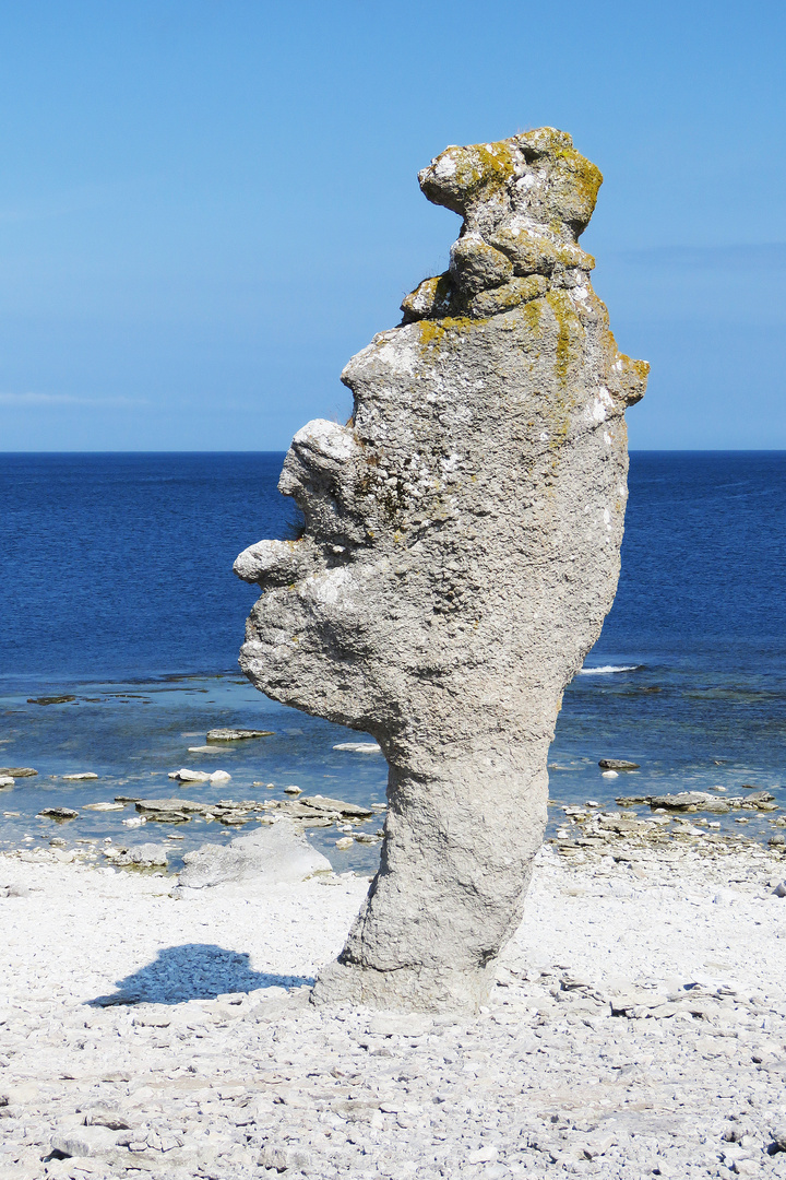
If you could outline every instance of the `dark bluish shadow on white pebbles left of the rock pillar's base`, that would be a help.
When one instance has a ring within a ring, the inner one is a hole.
[[[214,943],[167,946],[152,963],[118,979],[118,991],[87,1001],[93,1008],[114,1004],[180,1004],[189,999],[214,999],[227,992],[264,988],[299,988],[313,979],[302,975],[253,971],[249,956]]]

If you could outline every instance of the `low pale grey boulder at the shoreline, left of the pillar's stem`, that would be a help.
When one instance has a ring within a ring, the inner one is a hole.
[[[331,871],[328,858],[286,821],[238,837],[227,847],[205,845],[196,852],[186,852],[183,859],[185,868],[179,884],[189,889],[204,889],[222,881],[290,884]]]

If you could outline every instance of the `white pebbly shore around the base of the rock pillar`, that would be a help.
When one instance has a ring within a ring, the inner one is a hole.
[[[473,1021],[309,1004],[365,879],[4,856],[0,1175],[786,1176],[786,866],[582,856],[539,858]]]

